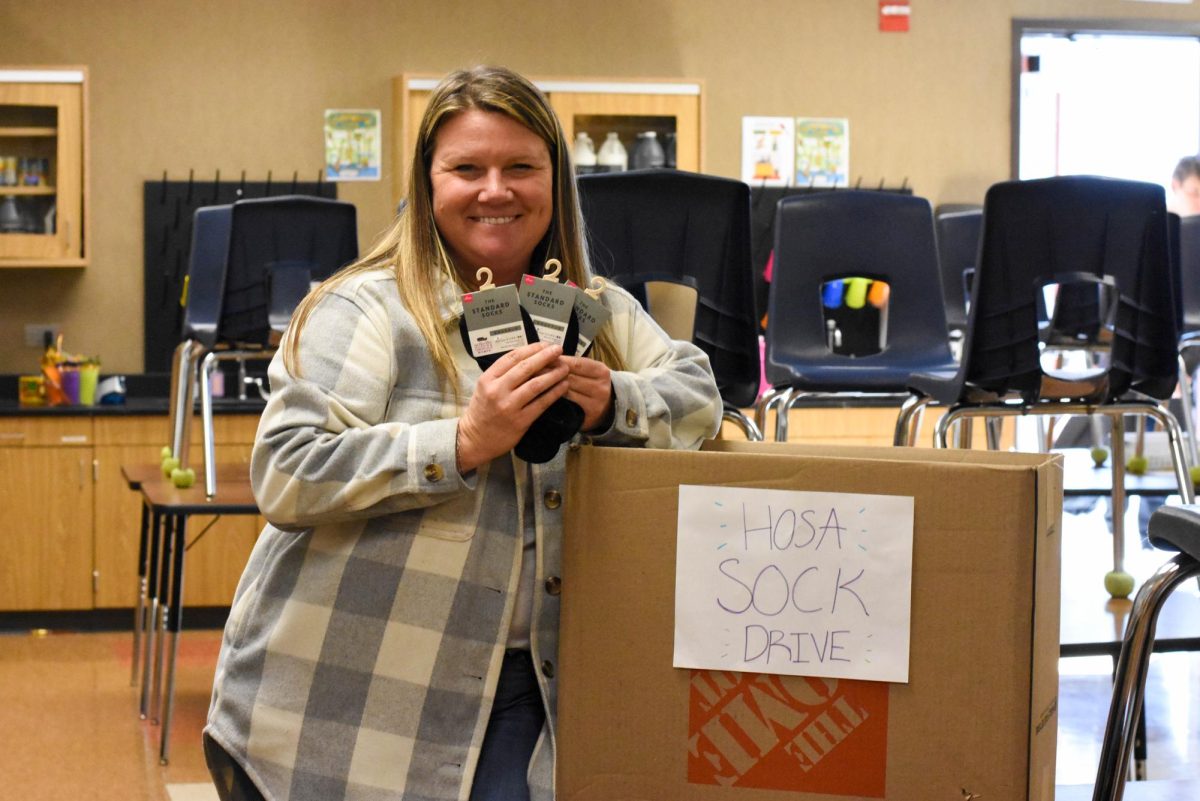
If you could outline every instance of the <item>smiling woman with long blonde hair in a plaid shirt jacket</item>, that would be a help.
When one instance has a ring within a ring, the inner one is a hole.
[[[463,349],[480,266],[587,285],[568,152],[520,76],[449,76],[404,212],[296,309],[205,728],[222,797],[553,799],[565,447],[510,451],[560,397],[623,446],[696,447],[721,410],[707,357],[617,288],[594,359],[539,343],[480,373]]]

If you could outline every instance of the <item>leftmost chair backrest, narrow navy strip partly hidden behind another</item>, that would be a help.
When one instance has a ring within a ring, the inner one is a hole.
[[[232,205],[202,206],[192,215],[181,339],[196,339],[208,349],[216,344],[221,321],[232,219]]]

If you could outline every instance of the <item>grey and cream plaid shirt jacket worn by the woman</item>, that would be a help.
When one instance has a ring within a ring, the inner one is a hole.
[[[720,423],[708,359],[623,290],[604,295],[626,362],[599,445],[694,448]],[[553,797],[563,468],[455,464],[480,371],[443,320],[461,397],[443,386],[392,273],[343,282],[300,339],[300,377],[270,367],[252,481],[270,522],[226,626],[205,731],[266,797],[466,799],[517,596],[526,498],[538,573],[530,649],[547,705],[529,766]],[[552,589],[553,588],[553,589]]]

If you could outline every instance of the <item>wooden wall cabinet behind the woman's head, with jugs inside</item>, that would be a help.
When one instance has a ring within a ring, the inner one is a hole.
[[[398,205],[407,193],[408,167],[421,126],[421,115],[439,78],[404,74],[392,80],[396,133],[392,157],[392,200]],[[632,155],[637,134],[654,131],[660,140],[674,135],[676,165],[704,170],[704,95],[698,80],[541,79],[532,80],[546,92],[568,141],[586,131],[596,149],[608,132],[616,132]]]

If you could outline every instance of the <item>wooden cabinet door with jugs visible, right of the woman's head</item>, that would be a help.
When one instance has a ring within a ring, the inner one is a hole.
[[[605,134],[614,131],[625,150],[632,152],[638,132],[656,131],[660,139],[664,133],[673,132],[676,167],[702,171],[700,95],[554,91],[550,94],[550,103],[568,141],[586,131],[599,149]]]

